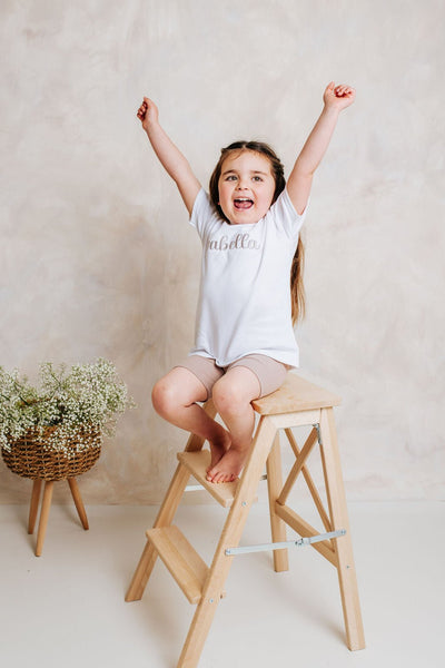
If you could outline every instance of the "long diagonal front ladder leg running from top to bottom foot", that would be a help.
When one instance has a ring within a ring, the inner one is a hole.
[[[226,554],[226,549],[237,547],[241,538],[276,431],[269,418],[261,418],[177,668],[195,668],[199,661],[234,559]]]

